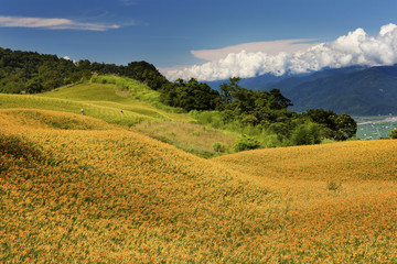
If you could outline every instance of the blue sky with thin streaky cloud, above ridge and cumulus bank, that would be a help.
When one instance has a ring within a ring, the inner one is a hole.
[[[358,28],[377,35],[397,24],[396,11],[396,0],[0,0],[0,46],[170,68],[245,43],[332,42]]]

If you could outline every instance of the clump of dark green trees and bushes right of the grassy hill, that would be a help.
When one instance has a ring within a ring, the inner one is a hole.
[[[203,124],[234,131],[251,128],[257,135],[262,131],[277,136],[278,145],[316,144],[323,139],[344,141],[353,138],[357,124],[348,114],[337,114],[332,110],[310,109],[303,113],[290,111],[291,100],[279,89],[270,91],[251,90],[239,86],[240,78],[229,78],[228,82],[212,89],[194,78],[189,81],[178,79],[162,86],[161,100],[171,107],[192,112]],[[253,144],[253,140],[243,136]],[[247,143],[248,144],[248,143]]]

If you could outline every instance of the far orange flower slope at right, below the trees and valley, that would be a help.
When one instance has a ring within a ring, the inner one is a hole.
[[[353,141],[235,153],[214,161],[276,179],[397,180],[397,141]]]

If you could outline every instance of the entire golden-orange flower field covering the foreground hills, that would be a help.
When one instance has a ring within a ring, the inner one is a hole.
[[[203,160],[0,110],[0,263],[397,263],[397,141]]]

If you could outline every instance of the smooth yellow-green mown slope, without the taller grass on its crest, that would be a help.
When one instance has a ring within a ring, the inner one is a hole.
[[[81,113],[84,109],[86,116],[129,127],[143,120],[190,119],[185,114],[165,112],[136,100],[128,90],[106,84],[83,84],[34,96],[0,95],[0,108],[36,108],[73,113]]]

